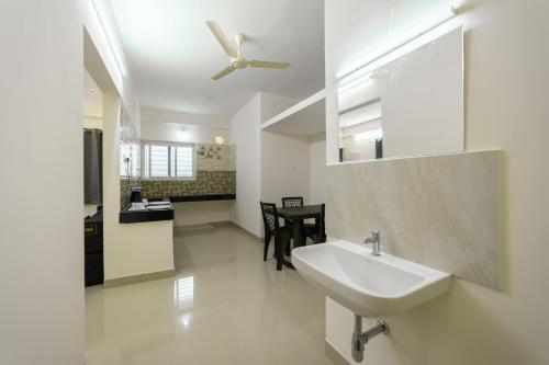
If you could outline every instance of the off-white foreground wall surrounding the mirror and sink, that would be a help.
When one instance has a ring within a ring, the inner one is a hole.
[[[393,10],[383,0],[326,1],[328,161],[337,160],[336,72],[379,44],[385,30],[395,35],[449,3],[403,0],[392,2]],[[503,149],[504,290],[456,281],[448,295],[389,318],[391,334],[367,344],[365,363],[541,365],[549,358],[549,295],[540,289],[549,280],[549,3],[466,4],[466,147]],[[349,361],[351,320],[347,309],[327,301],[326,340]]]

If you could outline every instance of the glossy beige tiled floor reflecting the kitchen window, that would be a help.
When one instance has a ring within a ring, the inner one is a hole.
[[[87,289],[87,365],[332,364],[324,297],[264,262],[259,242],[232,226],[177,229],[175,255],[175,278]]]

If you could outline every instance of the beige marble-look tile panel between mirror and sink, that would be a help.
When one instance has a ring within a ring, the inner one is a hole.
[[[404,259],[501,288],[500,151],[326,168],[326,229],[360,242],[381,231]]]

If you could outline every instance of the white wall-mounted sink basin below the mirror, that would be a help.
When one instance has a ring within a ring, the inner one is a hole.
[[[448,273],[347,241],[296,248],[292,262],[307,282],[365,317],[405,311],[451,286]]]

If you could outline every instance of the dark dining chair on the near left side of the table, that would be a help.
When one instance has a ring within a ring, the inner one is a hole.
[[[282,270],[284,251],[292,239],[292,229],[287,226],[280,226],[276,204],[259,202],[259,205],[261,206],[261,215],[264,217],[265,226],[264,261],[267,261],[269,243],[271,241],[271,238],[274,237],[274,255],[277,258],[277,270]]]

